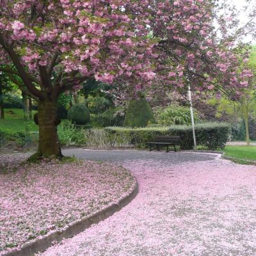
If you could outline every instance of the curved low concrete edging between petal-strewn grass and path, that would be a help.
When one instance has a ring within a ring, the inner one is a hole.
[[[22,248],[20,248],[20,250],[13,250],[12,252],[4,253],[3,256],[33,256],[35,253],[44,252],[47,250],[47,248],[52,246],[52,242],[54,241],[60,242],[62,239],[73,237],[76,234],[83,232],[91,225],[97,224],[102,220],[106,220],[106,218],[110,217],[115,212],[120,211],[120,209],[129,204],[136,197],[136,195],[138,195],[138,182],[135,177],[134,179],[136,182],[132,188],[131,193],[118,200],[117,204],[109,205],[105,209],[102,209],[86,218],[82,218],[81,220],[76,221],[75,223],[68,226],[65,230],[56,231],[49,236],[45,235],[41,239],[25,244],[22,246]]]

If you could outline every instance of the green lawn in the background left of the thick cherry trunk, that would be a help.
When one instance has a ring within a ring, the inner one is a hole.
[[[13,111],[13,113],[12,113]],[[33,114],[35,111],[33,111]],[[23,118],[23,109],[7,108],[4,109],[5,119],[0,119],[0,131],[3,132],[24,132],[25,122]],[[29,122],[30,131],[38,131],[38,126]]]

